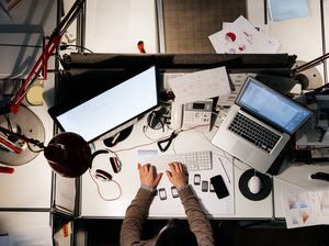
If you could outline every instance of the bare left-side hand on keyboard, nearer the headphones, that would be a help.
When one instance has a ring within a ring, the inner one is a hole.
[[[137,168],[141,185],[152,188],[156,188],[159,185],[162,174],[157,174],[155,166],[151,166],[150,164],[141,166],[141,164],[138,164]]]

